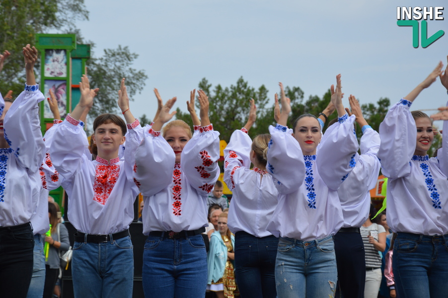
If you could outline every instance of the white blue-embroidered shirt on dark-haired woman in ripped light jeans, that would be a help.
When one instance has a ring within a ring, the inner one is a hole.
[[[303,155],[292,129],[270,126],[267,169],[279,191],[279,203],[267,226],[282,237],[302,241],[324,238],[343,224],[337,190],[353,167],[358,141],[355,116],[344,115],[325,132],[319,155]],[[331,156],[331,163],[319,161]],[[323,158],[322,158],[323,159]]]

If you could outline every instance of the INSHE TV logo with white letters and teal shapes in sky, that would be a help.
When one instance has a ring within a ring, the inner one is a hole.
[[[418,48],[419,20],[423,18],[421,43],[422,48],[426,48],[445,34],[443,30],[439,30],[428,38],[427,19],[443,20],[443,10],[444,7],[397,7],[397,25],[412,26],[412,46]]]

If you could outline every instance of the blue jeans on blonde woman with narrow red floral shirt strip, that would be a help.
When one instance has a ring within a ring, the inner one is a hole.
[[[207,253],[201,234],[168,239],[148,236],[143,251],[145,297],[205,297]]]

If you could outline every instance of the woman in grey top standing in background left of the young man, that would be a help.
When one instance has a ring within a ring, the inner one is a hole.
[[[59,276],[59,254],[70,248],[69,231],[64,224],[59,223],[56,203],[48,202],[48,217],[51,224],[51,236],[42,235],[44,241],[49,244],[48,259],[45,261],[46,271],[43,298],[53,297],[53,290]]]

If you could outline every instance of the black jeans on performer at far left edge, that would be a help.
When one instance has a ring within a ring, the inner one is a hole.
[[[0,297],[25,298],[33,275],[31,224],[0,228]]]

